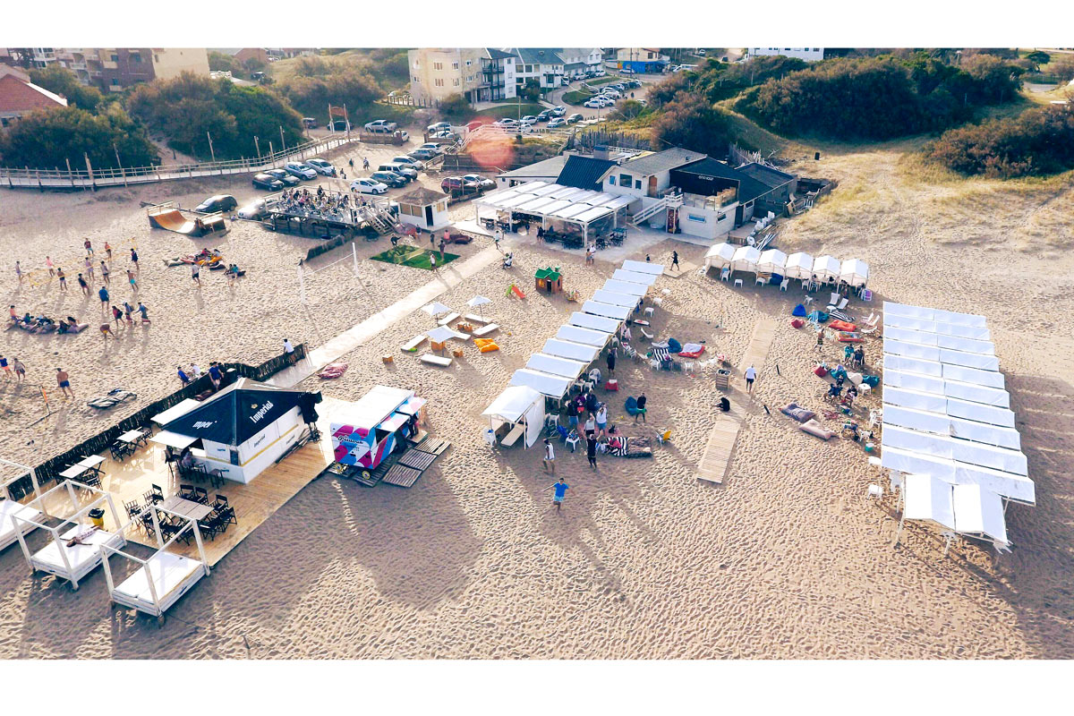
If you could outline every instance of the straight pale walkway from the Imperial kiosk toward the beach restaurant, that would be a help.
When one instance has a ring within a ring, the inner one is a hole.
[[[377,311],[361,323],[344,331],[323,346],[310,351],[309,355],[299,363],[277,372],[265,382],[278,385],[279,388],[292,388],[296,385],[332,361],[336,361],[359,346],[364,345],[369,338],[376,336],[400,319],[409,316],[448,290],[459,286],[463,280],[474,276],[485,266],[491,265],[502,255],[503,253],[499,249],[490,246],[462,262],[458,267],[448,264],[440,268],[437,278],[400,298],[383,310]]]

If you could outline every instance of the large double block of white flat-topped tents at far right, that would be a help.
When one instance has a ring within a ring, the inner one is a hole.
[[[884,303],[881,467],[902,521],[1005,549],[1006,503],[1036,500],[1015,424],[983,316]]]

